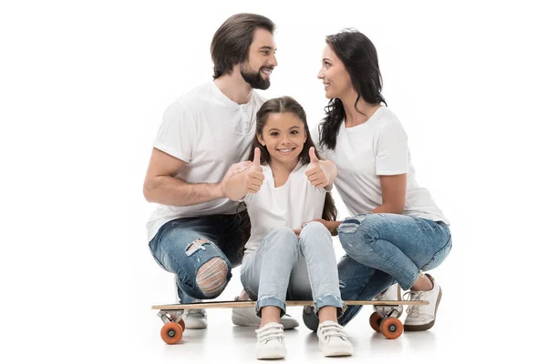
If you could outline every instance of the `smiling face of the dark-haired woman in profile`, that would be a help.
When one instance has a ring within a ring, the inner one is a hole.
[[[330,45],[323,50],[322,66],[317,78],[323,81],[326,98],[342,98],[353,90],[346,67]]]

